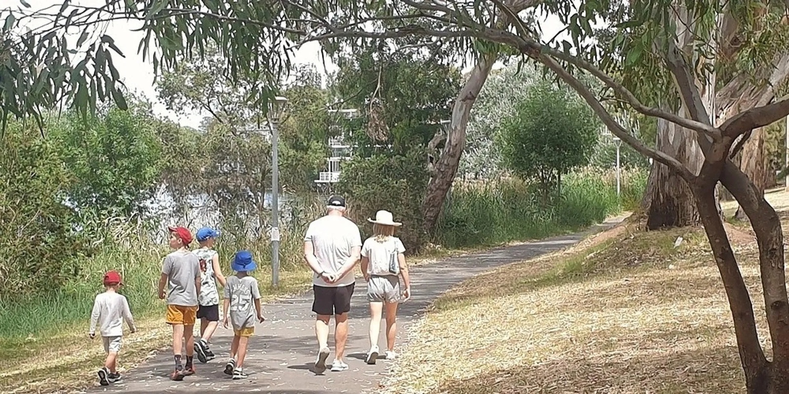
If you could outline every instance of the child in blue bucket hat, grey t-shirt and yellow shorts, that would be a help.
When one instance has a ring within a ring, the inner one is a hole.
[[[255,333],[255,322],[264,322],[260,310],[260,288],[257,280],[249,276],[249,271],[257,268],[252,252],[238,251],[230,262],[236,274],[227,278],[225,286],[224,325],[233,325],[233,344],[230,346],[230,360],[225,365],[225,374],[234,379],[245,379],[244,358],[249,337]],[[252,304],[255,305],[254,310]]]

